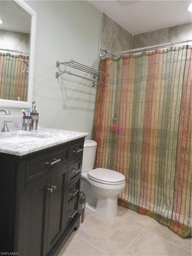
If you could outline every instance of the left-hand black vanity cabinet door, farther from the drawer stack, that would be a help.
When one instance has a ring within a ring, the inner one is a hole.
[[[23,228],[23,251],[21,255],[46,255],[46,227],[48,222],[49,185],[45,179],[25,192],[25,218]]]

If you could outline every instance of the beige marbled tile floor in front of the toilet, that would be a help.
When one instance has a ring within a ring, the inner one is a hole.
[[[59,256],[191,255],[191,239],[182,239],[154,219],[119,206],[118,216],[103,218],[85,210]]]

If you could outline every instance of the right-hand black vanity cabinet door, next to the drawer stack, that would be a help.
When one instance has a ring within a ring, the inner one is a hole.
[[[47,254],[65,230],[67,174],[68,166],[51,176]]]

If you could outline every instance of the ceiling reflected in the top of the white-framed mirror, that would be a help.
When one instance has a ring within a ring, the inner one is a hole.
[[[31,16],[14,1],[0,0],[0,29],[30,33]]]

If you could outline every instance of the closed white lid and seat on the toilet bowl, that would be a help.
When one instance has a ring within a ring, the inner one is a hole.
[[[122,183],[125,180],[125,176],[119,172],[104,169],[104,168],[97,168],[88,171],[87,174],[88,178],[93,179],[95,181],[101,182],[101,183]]]

